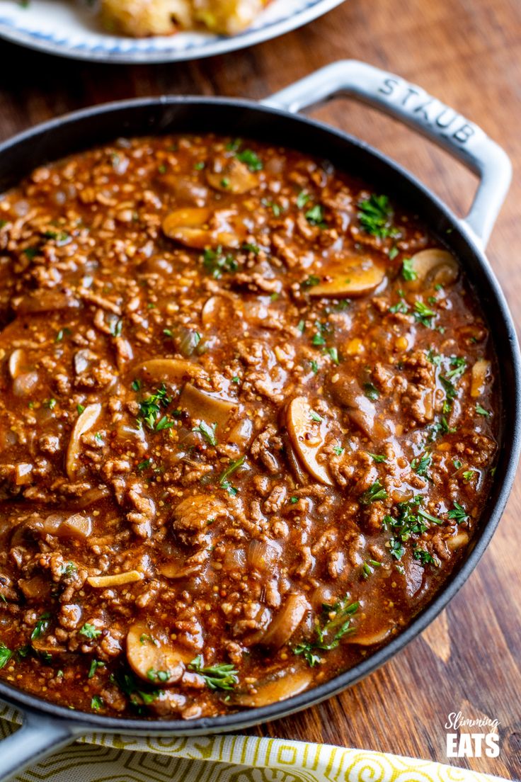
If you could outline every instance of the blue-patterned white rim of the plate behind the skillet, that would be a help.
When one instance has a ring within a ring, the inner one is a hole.
[[[104,59],[118,63],[132,62],[166,62],[182,59],[194,59],[196,57],[212,56],[223,52],[233,51],[237,48],[253,45],[260,41],[266,41],[277,35],[284,34],[295,27],[316,19],[323,13],[327,13],[344,0],[307,0],[302,6],[292,13],[281,16],[275,20],[261,23],[244,30],[243,32],[227,37],[223,35],[202,35],[183,33],[182,45],[158,45],[155,38],[148,38],[138,42],[132,42],[131,38],[118,40],[107,36],[106,41],[73,41],[67,34],[59,34],[56,30],[43,32],[31,29],[30,26],[21,25],[10,16],[0,15],[0,36],[30,48],[62,56],[78,57],[80,59]],[[173,44],[176,43],[176,35],[170,36]],[[165,41],[165,37],[160,38]],[[116,41],[116,42],[114,42]],[[179,38],[177,38],[179,41]],[[90,55],[90,57],[89,57]],[[151,57],[152,56],[152,57]]]

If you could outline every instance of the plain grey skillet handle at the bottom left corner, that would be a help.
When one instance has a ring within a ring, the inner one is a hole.
[[[0,743],[0,782],[70,744],[81,732],[64,720],[26,713],[22,727]]]

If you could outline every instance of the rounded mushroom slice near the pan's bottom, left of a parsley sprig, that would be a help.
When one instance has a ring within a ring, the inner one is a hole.
[[[175,684],[193,655],[157,637],[145,622],[135,622],[127,634],[127,660],[136,676],[148,683]]]

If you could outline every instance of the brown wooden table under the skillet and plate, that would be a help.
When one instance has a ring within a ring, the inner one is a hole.
[[[0,136],[71,109],[134,95],[197,93],[259,99],[334,59],[352,57],[416,81],[484,127],[517,167],[491,239],[491,263],[521,317],[521,2],[347,0],[284,38],[230,56],[160,66],[74,63],[2,44]],[[379,146],[457,212],[473,176],[444,152],[369,109],[332,102],[317,116]],[[499,719],[498,759],[459,759],[521,777],[521,486],[491,547],[434,625],[368,679],[323,705],[259,727],[278,737],[379,749],[447,762],[449,712]],[[517,550],[516,550],[517,548]]]

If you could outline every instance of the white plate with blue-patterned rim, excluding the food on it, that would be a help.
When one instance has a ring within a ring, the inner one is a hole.
[[[252,27],[231,38],[177,33],[123,38],[98,27],[88,2],[0,0],[0,37],[41,52],[102,63],[172,63],[252,46],[322,16],[343,0],[273,0]]]

